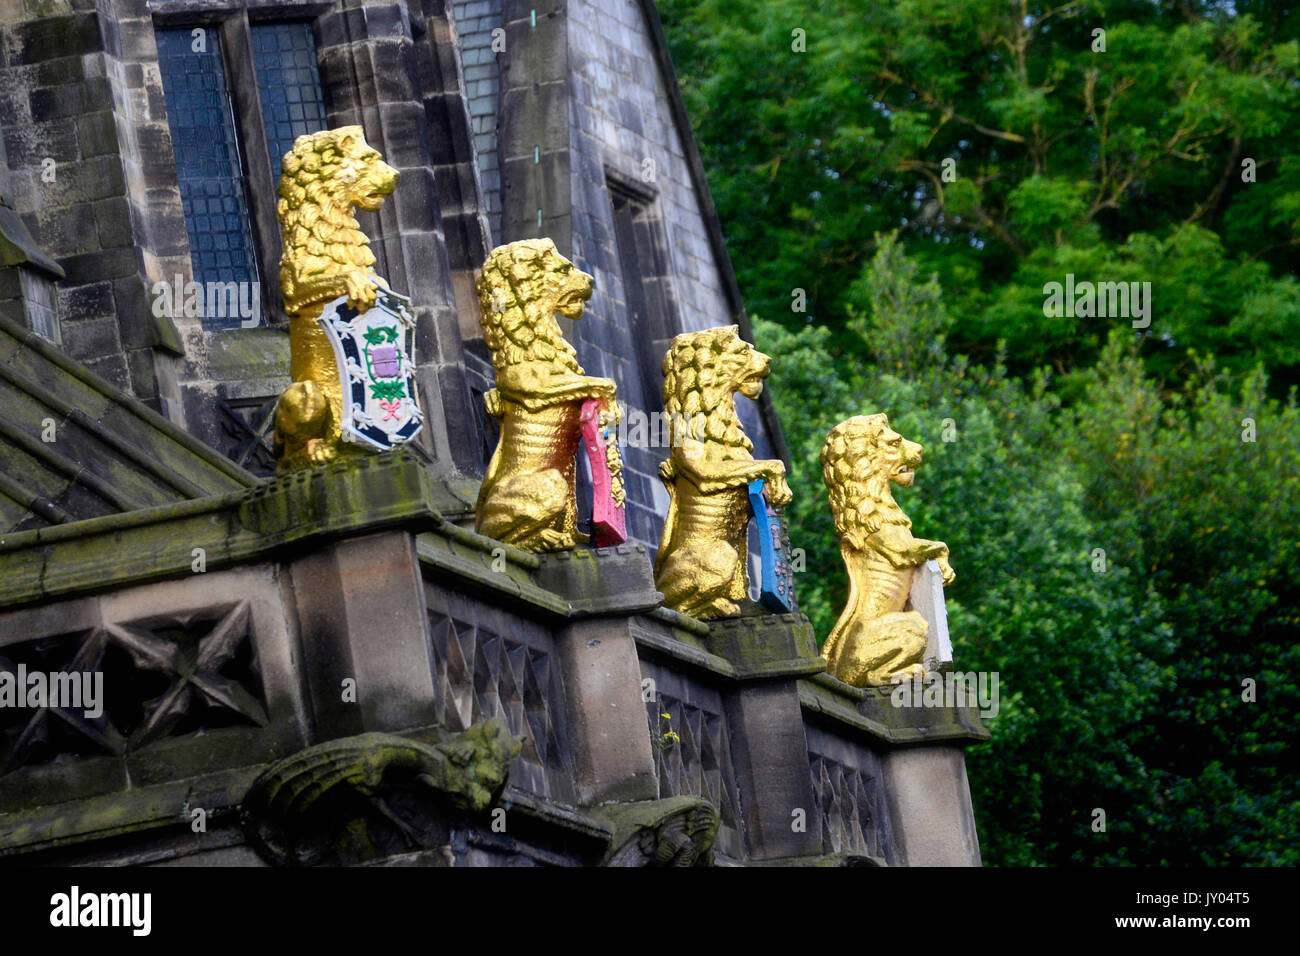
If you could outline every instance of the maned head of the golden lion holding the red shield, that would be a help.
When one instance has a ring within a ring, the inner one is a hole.
[[[520,239],[494,248],[477,284],[493,365],[500,371],[520,362],[549,362],[582,375],[555,313],[581,319],[593,281],[550,239]]]

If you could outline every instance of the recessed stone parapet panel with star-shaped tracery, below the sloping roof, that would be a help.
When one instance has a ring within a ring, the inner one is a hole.
[[[294,749],[304,722],[290,654],[270,568],[0,614],[0,683],[22,675],[48,695],[0,706],[0,810]]]

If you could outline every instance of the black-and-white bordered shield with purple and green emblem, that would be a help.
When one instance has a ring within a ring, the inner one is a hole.
[[[320,324],[334,346],[343,388],[343,441],[387,451],[420,432],[424,415],[415,393],[411,299],[376,284],[374,306],[358,312],[341,295]]]

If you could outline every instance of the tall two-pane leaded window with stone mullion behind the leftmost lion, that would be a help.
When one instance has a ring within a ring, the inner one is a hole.
[[[194,22],[153,3],[194,281],[220,290],[200,298],[209,332],[265,325],[280,311],[281,160],[299,135],[326,126],[311,22],[250,22],[248,5],[216,0]]]

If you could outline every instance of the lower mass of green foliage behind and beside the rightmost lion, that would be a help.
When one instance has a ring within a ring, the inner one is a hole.
[[[822,442],[845,418],[888,410],[926,446],[898,498],[918,533],[952,549],[954,654],[1001,675],[993,741],[968,763],[985,861],[1295,864],[1295,402],[1269,399],[1261,373],[1230,397],[1206,363],[1170,395],[1117,336],[1062,407],[1046,373],[1019,381],[950,358],[933,278],[894,237],[875,246],[838,342],[755,319],[781,356],[770,388],[818,633],[848,588]],[[1260,522],[1283,529],[1269,546]]]

